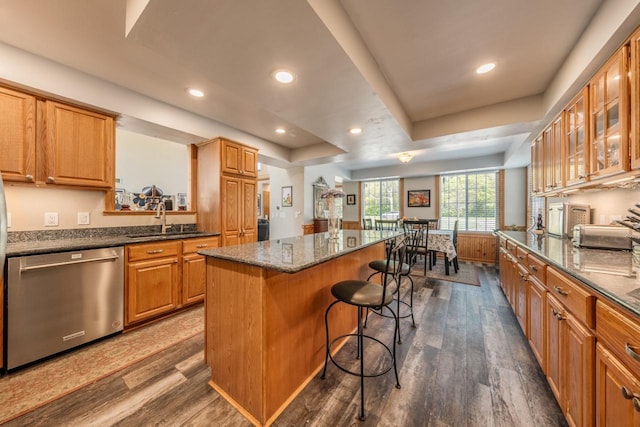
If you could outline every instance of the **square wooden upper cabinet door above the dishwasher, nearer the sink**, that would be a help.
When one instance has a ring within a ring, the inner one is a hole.
[[[47,183],[113,187],[113,117],[47,101],[46,123]]]

